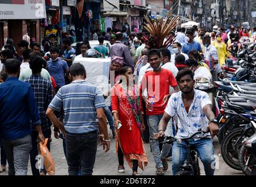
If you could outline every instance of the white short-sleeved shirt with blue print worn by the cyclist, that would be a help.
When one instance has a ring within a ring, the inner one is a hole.
[[[195,94],[193,102],[189,107],[188,113],[186,112],[184,103],[182,101],[181,91],[171,95],[167,107],[164,110],[164,112],[166,112],[169,116],[178,117],[177,138],[188,137],[189,134],[196,133],[199,129],[205,131],[209,124],[209,120],[207,119],[205,112],[203,112],[203,108],[206,105],[212,105],[209,95],[206,92],[199,91],[197,89],[194,89],[194,91]],[[207,135],[210,134],[207,133],[203,136]]]

